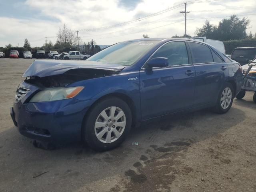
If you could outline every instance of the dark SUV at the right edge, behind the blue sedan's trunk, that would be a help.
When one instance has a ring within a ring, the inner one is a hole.
[[[237,47],[231,53],[231,59],[239,62],[242,66],[254,58],[256,58],[256,47]]]

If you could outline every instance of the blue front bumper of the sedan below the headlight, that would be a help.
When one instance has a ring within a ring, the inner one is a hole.
[[[43,141],[78,141],[84,116],[94,100],[66,100],[29,103],[36,86],[22,82],[20,87],[31,91],[17,103],[10,115],[20,134]]]

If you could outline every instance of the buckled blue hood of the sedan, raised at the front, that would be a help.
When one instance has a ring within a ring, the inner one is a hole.
[[[124,67],[125,66],[118,64],[105,64],[95,61],[35,60],[24,72],[22,77],[46,77],[52,75],[59,75],[64,74],[69,70],[79,68],[119,71],[122,70]]]

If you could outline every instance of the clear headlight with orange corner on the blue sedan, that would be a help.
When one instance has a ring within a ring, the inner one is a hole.
[[[62,99],[69,99],[76,96],[83,90],[81,87],[67,87],[67,88],[49,88],[42,90],[35,94],[29,102],[44,102],[44,101],[56,101]]]

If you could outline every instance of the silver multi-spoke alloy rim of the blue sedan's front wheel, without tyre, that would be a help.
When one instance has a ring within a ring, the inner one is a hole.
[[[122,109],[111,106],[104,109],[94,124],[95,135],[103,143],[112,143],[124,132],[126,116]]]

